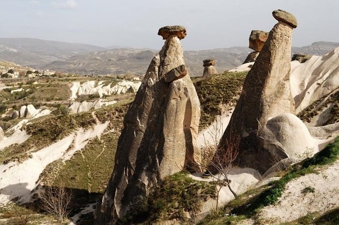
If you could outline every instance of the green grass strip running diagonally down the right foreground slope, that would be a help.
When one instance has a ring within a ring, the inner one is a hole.
[[[280,180],[271,182],[268,186],[240,195],[238,198],[229,202],[224,210],[222,210],[218,215],[209,216],[200,224],[215,224],[213,223],[214,221],[224,219],[225,213],[232,213],[238,216],[251,218],[263,207],[276,203],[279,197],[281,197],[288,182],[307,174],[317,173],[317,169],[319,167],[335,162],[338,159],[338,155],[339,137],[313,157],[294,165]]]

